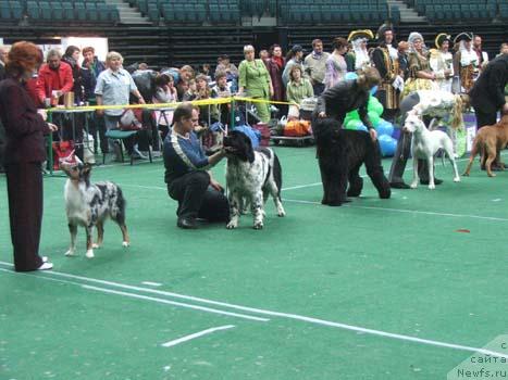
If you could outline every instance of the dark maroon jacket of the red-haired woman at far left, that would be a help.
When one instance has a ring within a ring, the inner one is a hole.
[[[7,135],[5,165],[46,160],[48,124],[24,86],[12,78],[0,83],[0,117]]]

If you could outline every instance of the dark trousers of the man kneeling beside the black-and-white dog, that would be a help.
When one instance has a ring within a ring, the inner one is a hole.
[[[227,198],[210,187],[210,175],[207,172],[191,172],[171,183],[168,192],[178,201],[178,217],[203,218],[209,221],[228,221],[230,203]]]

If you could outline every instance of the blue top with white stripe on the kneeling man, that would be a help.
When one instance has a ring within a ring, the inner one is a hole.
[[[208,168],[208,157],[201,149],[198,137],[193,131],[188,138],[172,130],[164,140],[164,181],[171,183],[174,179],[187,173]]]

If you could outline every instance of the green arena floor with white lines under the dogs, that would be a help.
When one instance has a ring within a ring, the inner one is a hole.
[[[261,231],[250,215],[177,229],[161,162],[95,168],[124,190],[132,246],[108,223],[94,259],[83,229],[64,256],[65,179],[45,178],[54,269],[28,275],[12,271],[0,177],[0,379],[446,379],[467,346],[507,332],[508,173],[475,165],[454,183],[439,163],[434,191],[380,200],[365,178],[360,199],[326,207],[314,149],[275,150],[287,217],[269,202]]]

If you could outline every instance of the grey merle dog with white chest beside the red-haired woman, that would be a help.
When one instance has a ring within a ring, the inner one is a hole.
[[[60,167],[69,176],[64,187],[65,211],[67,214],[71,246],[65,253],[73,256],[76,251],[77,226],[86,229],[86,257],[94,257],[94,249],[102,244],[104,227],[111,217],[122,230],[123,246],[129,245],[127,227],[125,226],[125,199],[122,189],[110,181],[90,183],[89,164],[79,159],[65,159]],[[92,228],[97,227],[97,243],[92,243]]]

